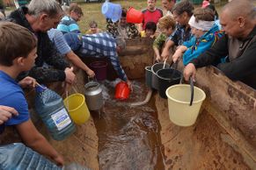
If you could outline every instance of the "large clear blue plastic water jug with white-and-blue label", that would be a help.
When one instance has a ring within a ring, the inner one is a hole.
[[[55,140],[67,138],[75,130],[75,124],[64,107],[62,97],[46,87],[36,87],[35,110]]]

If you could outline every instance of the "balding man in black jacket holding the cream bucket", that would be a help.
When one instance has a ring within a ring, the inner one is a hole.
[[[249,1],[233,0],[223,7],[220,23],[226,33],[207,52],[191,60],[184,69],[186,80],[195,76],[197,67],[208,66],[222,56],[226,63],[217,67],[233,81],[243,81],[256,89],[256,27],[253,4]]]

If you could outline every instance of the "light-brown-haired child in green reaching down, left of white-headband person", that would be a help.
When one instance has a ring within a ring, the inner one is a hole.
[[[157,39],[154,40],[153,49],[156,54],[156,60],[160,61],[160,51],[162,50],[167,37],[174,32],[176,22],[170,15],[166,15],[165,17],[159,19],[157,27],[161,33],[158,35]]]

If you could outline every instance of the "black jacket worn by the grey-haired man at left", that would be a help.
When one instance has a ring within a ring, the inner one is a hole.
[[[7,20],[18,25],[22,25],[33,32],[32,27],[25,17],[27,11],[28,9],[26,7],[21,7],[16,11],[12,11]],[[29,71],[29,73],[19,75],[18,79],[22,79],[26,75],[30,75],[39,82],[64,81],[66,78],[64,69],[69,67],[69,63],[64,60],[60,53],[57,52],[55,45],[48,38],[47,32],[33,33],[38,39],[38,57],[35,60],[35,66]],[[43,67],[44,63],[47,63],[55,69]]]

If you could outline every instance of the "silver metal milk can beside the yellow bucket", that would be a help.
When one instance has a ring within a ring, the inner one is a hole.
[[[99,82],[89,81],[84,85],[84,87],[85,102],[87,103],[89,110],[100,110],[104,105],[104,101]]]

